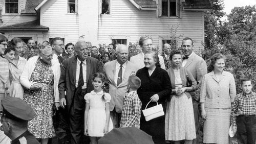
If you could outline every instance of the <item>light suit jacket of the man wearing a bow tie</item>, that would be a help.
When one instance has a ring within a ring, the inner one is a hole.
[[[199,101],[200,99],[200,88],[203,76],[207,74],[207,65],[203,58],[198,56],[195,52],[187,59],[187,63],[184,66],[185,69],[189,70],[193,75],[199,88],[195,92],[190,92],[193,99]]]

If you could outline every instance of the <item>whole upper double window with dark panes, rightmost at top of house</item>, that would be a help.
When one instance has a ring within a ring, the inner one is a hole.
[[[160,0],[160,16],[180,16],[180,0]]]

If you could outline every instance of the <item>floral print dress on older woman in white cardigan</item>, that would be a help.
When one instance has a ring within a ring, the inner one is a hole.
[[[55,131],[52,120],[54,75],[51,63],[42,65],[41,60],[38,59],[30,80],[42,84],[42,88],[40,90],[26,90],[24,93],[24,101],[30,104],[36,113],[36,116],[28,123],[28,130],[36,138],[54,137]]]

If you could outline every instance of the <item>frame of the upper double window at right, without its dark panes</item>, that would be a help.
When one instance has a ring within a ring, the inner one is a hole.
[[[181,0],[175,0],[176,1],[176,15],[170,15],[170,0],[167,0],[168,7],[167,7],[167,16],[162,15],[162,0],[159,0],[159,17],[161,18],[176,18],[181,17]]]

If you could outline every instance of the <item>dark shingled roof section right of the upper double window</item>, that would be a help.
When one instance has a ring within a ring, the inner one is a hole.
[[[182,2],[184,10],[211,10],[211,4],[209,0],[186,0]]]

